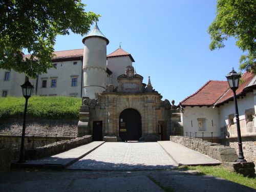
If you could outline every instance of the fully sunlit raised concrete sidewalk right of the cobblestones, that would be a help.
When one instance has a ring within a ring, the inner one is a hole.
[[[212,159],[204,154],[191,150],[181,144],[172,141],[158,141],[164,151],[180,165],[219,165],[220,161]]]

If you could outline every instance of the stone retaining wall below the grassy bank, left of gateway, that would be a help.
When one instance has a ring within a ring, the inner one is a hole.
[[[26,135],[77,137],[78,120],[31,119],[26,121]],[[10,118],[0,124],[1,135],[22,135],[23,119]]]

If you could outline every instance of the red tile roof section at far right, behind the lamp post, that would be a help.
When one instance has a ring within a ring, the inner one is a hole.
[[[242,75],[241,80],[243,82],[239,84],[239,88],[236,91],[237,96],[243,94],[243,92],[245,91],[244,89],[246,88],[246,86],[249,84],[249,82],[252,80],[253,77],[254,77],[254,74],[248,73],[248,72]],[[227,93],[225,93],[225,95],[223,95],[223,97],[220,98],[220,100],[218,100],[216,105],[219,105],[225,101],[232,100],[232,99],[233,99],[233,91],[229,89]]]

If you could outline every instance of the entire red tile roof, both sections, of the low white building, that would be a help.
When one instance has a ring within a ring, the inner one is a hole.
[[[237,95],[245,93],[246,86],[252,80],[254,74],[244,73],[241,77],[243,83],[240,84]],[[227,81],[208,81],[196,93],[188,96],[180,102],[181,106],[211,106],[220,105],[232,100],[233,92],[229,89]]]

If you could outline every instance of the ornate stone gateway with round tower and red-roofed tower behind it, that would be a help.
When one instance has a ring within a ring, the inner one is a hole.
[[[150,77],[147,84],[142,82],[132,67],[132,55],[120,47],[106,56],[109,40],[97,24],[83,43],[78,134],[104,141],[168,140],[174,132],[172,112],[179,112],[168,100],[161,100]]]

